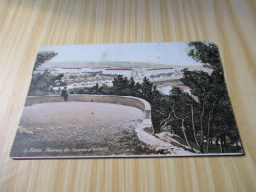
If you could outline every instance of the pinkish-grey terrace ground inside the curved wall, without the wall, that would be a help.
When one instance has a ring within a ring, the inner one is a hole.
[[[138,140],[135,132],[144,119],[142,110],[118,104],[33,104],[23,111],[12,154],[23,157],[149,154],[152,151]],[[64,153],[65,149],[71,152]]]

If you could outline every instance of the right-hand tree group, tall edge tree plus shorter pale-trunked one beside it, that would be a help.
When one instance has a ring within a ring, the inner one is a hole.
[[[164,110],[159,110],[164,117],[160,129],[171,126],[173,132],[183,135],[189,147],[201,153],[209,152],[210,142],[215,138],[216,143],[221,141],[220,151],[224,152],[227,140],[237,143],[239,136],[218,49],[213,43],[191,42],[188,55],[212,72],[183,70],[181,82],[190,88],[190,94],[180,88],[171,90],[164,100],[168,107],[161,106]]]

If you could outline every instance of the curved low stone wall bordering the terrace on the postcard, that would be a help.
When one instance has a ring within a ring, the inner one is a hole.
[[[101,102],[136,107],[142,110],[146,119],[151,119],[151,105],[146,100],[132,96],[113,95],[91,95],[91,94],[70,94],[68,101],[78,102]],[[63,102],[61,96],[27,96],[25,106],[35,103]]]

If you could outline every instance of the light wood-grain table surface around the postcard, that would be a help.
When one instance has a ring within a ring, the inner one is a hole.
[[[12,160],[41,45],[214,41],[244,157]],[[0,1],[0,191],[256,191],[256,2]]]

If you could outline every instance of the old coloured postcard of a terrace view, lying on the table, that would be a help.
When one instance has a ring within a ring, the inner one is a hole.
[[[10,156],[243,155],[212,42],[40,47]]]

